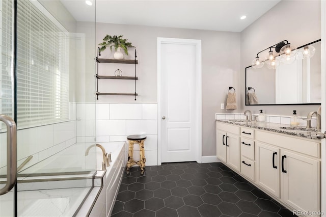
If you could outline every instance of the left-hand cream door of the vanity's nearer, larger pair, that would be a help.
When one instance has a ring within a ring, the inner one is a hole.
[[[280,149],[256,143],[256,181],[270,194],[280,197]]]

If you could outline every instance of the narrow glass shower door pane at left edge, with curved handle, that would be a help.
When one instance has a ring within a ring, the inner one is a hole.
[[[13,84],[13,27],[14,1],[0,2],[0,114],[14,119],[14,84]],[[0,122],[0,188],[8,181],[7,171],[7,128]],[[15,187],[0,196],[0,216],[15,215]]]

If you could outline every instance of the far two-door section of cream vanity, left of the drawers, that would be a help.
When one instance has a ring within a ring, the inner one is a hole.
[[[240,171],[240,127],[216,122],[216,156]]]

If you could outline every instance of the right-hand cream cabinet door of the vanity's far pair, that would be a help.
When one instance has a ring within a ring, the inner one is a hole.
[[[227,164],[236,171],[240,171],[240,137],[227,133],[226,135],[227,148]]]

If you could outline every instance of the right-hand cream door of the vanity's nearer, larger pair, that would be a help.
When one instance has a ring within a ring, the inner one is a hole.
[[[281,199],[295,210],[320,210],[320,162],[281,151]]]

